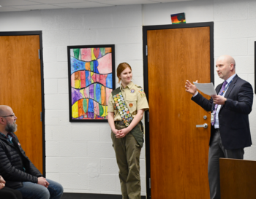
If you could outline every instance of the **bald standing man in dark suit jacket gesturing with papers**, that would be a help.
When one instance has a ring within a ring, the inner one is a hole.
[[[252,111],[253,91],[249,82],[236,74],[236,62],[229,55],[217,59],[216,71],[225,81],[218,95],[208,100],[188,80],[186,91],[206,111],[211,111],[211,138],[208,153],[208,180],[211,199],[220,198],[219,158],[244,158],[244,147],[252,145],[248,115]]]

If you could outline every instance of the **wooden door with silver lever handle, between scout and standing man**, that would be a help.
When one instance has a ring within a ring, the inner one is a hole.
[[[195,126],[210,113],[184,87],[211,82],[209,27],[147,31],[147,44],[151,198],[209,198],[210,126]]]

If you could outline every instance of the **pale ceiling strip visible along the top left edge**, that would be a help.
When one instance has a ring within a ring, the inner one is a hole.
[[[0,0],[0,12],[113,7],[128,4],[157,4],[177,1],[192,0]]]

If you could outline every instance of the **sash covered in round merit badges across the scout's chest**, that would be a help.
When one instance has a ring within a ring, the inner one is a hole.
[[[127,104],[124,101],[124,97],[121,91],[118,94],[113,95],[113,99],[115,102],[115,106],[121,116],[121,120],[123,120],[126,126],[129,126],[129,122],[132,121],[133,117],[132,114],[130,114],[129,109],[127,108]]]

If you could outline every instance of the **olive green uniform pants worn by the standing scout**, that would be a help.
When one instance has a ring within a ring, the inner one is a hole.
[[[115,126],[118,130],[125,128],[124,125],[115,124]],[[123,199],[140,199],[141,147],[132,133],[128,133],[124,138],[116,138],[111,132],[111,138],[116,152]]]

